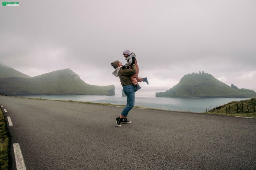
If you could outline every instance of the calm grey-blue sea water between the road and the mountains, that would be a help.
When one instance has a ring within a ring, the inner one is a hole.
[[[111,103],[111,104],[126,104],[126,97],[121,95],[115,96],[95,96],[95,95],[29,95],[21,96],[28,98],[40,98],[51,100],[74,100],[81,102],[94,103]],[[245,100],[245,98],[158,98],[152,95],[135,97],[135,106],[147,108],[159,108],[172,111],[191,111],[204,112],[206,107],[214,108],[231,101]]]

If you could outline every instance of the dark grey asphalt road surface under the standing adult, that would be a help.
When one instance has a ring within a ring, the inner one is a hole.
[[[27,169],[256,169],[256,119],[0,96]],[[16,169],[13,147],[12,165]]]

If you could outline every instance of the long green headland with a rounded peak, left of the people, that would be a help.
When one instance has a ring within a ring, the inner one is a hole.
[[[67,68],[33,78],[0,78],[0,92],[8,95],[114,95],[114,85],[87,84]]]

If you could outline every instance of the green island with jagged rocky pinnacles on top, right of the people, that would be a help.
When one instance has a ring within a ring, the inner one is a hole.
[[[227,84],[217,80],[211,74],[204,72],[184,75],[178,84],[165,92],[157,92],[157,97],[226,97],[251,98],[256,92],[245,88],[239,89],[234,84]]]

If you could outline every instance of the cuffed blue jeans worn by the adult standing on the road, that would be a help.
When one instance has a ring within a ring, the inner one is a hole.
[[[129,111],[132,109],[135,103],[135,86],[133,85],[126,85],[123,86],[124,94],[127,96],[127,104],[124,110],[121,112],[121,115],[127,116]]]

